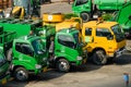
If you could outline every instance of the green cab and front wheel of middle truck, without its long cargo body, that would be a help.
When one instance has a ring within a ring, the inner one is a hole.
[[[81,65],[86,62],[83,58],[82,41],[79,39],[79,30],[75,28],[63,28],[56,32],[56,27],[46,26],[41,35],[47,40],[47,49],[53,41],[52,54],[49,57],[51,67],[60,72],[69,72],[71,65]]]

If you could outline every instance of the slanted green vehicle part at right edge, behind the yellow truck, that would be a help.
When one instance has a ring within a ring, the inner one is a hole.
[[[118,13],[115,15],[114,21],[118,22],[123,32],[126,33],[126,37],[131,37],[131,2],[124,4]]]

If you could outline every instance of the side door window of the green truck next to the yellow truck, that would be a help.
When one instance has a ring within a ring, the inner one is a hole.
[[[75,46],[73,37],[68,35],[59,35],[58,42],[70,48],[74,48]]]

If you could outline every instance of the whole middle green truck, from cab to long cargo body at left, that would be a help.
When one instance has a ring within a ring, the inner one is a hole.
[[[31,30],[35,36],[44,40],[45,51],[50,51],[50,45],[53,41],[52,52],[48,54],[49,65],[56,67],[59,72],[69,72],[71,65],[81,65],[86,62],[83,58],[82,42],[79,40],[79,30],[67,28],[57,30],[55,26],[41,25],[43,21],[3,18],[0,25],[7,32],[16,32],[16,37],[29,35]],[[67,39],[64,39],[67,37]],[[53,39],[52,39],[53,38]],[[69,52],[69,51],[72,52]]]

